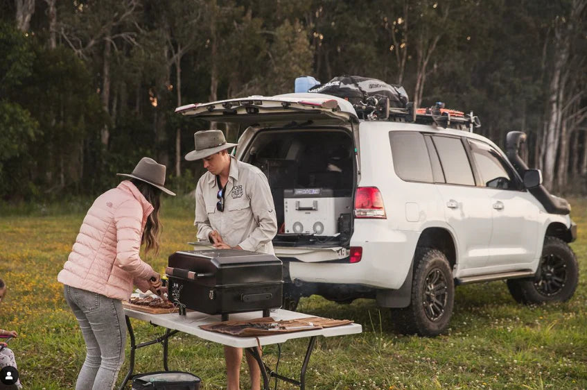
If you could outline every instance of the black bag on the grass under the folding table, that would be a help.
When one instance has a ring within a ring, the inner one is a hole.
[[[132,390],[200,390],[200,378],[182,371],[159,371],[132,377]]]

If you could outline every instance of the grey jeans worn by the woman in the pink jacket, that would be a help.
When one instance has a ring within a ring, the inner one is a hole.
[[[101,294],[64,286],[86,342],[86,359],[76,390],[112,390],[124,362],[126,326],[122,303]]]

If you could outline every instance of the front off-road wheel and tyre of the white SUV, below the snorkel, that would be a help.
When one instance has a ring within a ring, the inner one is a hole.
[[[546,236],[536,275],[509,279],[507,288],[518,303],[536,305],[569,300],[578,282],[579,264],[575,253],[565,241]]]

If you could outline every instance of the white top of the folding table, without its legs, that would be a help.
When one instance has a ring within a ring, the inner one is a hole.
[[[207,325],[209,323],[220,322],[220,316],[211,316],[200,312],[187,312],[186,316],[179,316],[179,314],[150,314],[145,312],[138,312],[137,310],[128,309],[125,307],[124,314],[133,319],[139,319],[142,321],[150,321],[156,325],[163,326],[168,329],[179,330],[194,336],[200,337],[200,339],[213,341],[215,343],[223,344],[225,346],[232,346],[237,348],[248,348],[257,346],[257,339],[262,346],[269,344],[280,344],[290,339],[299,339],[301,337],[312,337],[312,336],[342,336],[344,334],[357,334],[362,332],[362,326],[358,323],[351,323],[349,325],[334,326],[332,328],[323,328],[317,330],[304,330],[303,332],[291,332],[281,333],[270,336],[259,336],[259,337],[236,337],[230,334],[210,332],[203,330],[200,325]],[[251,319],[258,319],[263,316],[263,312],[248,312],[248,313],[235,313],[230,314],[229,319],[231,321],[247,321]],[[290,319],[302,319],[304,317],[310,317],[308,314],[290,312],[289,310],[272,310],[270,316],[275,320],[290,320]]]

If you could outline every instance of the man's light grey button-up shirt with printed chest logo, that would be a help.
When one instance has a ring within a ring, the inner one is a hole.
[[[209,233],[218,230],[229,246],[274,254],[271,240],[277,234],[277,218],[268,180],[259,168],[230,159],[223,212],[216,209],[216,176],[206,172],[198,180],[193,222],[198,239],[209,241]]]

